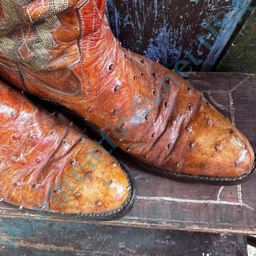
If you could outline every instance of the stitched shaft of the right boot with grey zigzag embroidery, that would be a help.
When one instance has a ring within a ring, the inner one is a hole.
[[[94,80],[90,74],[102,72],[109,58],[105,52],[114,45],[105,1],[6,0],[2,7],[2,76],[28,92],[33,83],[39,83],[60,94],[86,96],[88,80]]]

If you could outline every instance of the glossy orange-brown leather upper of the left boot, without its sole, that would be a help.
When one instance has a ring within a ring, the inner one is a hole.
[[[27,209],[42,208],[42,200],[53,212],[88,214],[116,209],[127,198],[126,174],[111,155],[95,151],[92,139],[63,115],[49,113],[2,81],[0,143],[1,200]],[[98,167],[88,166],[90,158]],[[72,168],[78,172],[79,164],[85,167],[76,177]]]

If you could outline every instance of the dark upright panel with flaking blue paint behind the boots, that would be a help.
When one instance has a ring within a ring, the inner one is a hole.
[[[240,1],[245,5],[240,8],[243,14],[250,0]],[[152,60],[159,58],[167,67],[186,60],[195,70],[210,70],[232,34],[226,33],[228,24],[216,26],[214,16],[225,11],[225,18],[239,22],[231,0],[107,0],[107,4],[111,29],[123,46]],[[206,29],[207,24],[219,33],[217,38]],[[213,45],[211,50],[196,38],[197,34]],[[197,60],[202,59],[202,65],[185,58],[185,49],[192,50]]]

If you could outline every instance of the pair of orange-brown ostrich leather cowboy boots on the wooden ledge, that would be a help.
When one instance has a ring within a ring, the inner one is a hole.
[[[96,141],[1,83],[4,201],[108,220],[128,212],[133,176],[111,151],[173,178],[241,183],[254,173],[242,133],[172,70],[121,47],[105,0],[2,1],[0,74],[20,90],[76,111]]]

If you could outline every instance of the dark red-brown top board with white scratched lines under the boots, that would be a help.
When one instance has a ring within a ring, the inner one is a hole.
[[[256,75],[192,73],[189,82],[248,137],[256,148]],[[81,121],[80,125],[83,125]],[[238,186],[173,181],[140,170],[122,156],[138,184],[132,211],[105,225],[256,234],[256,175]],[[26,218],[26,211],[0,202],[0,217]],[[31,214],[39,219],[36,213]],[[83,216],[50,214],[47,220],[85,222]]]

